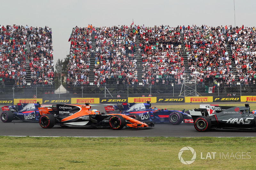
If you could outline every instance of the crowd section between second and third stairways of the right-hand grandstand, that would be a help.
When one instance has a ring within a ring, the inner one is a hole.
[[[145,85],[174,83],[185,78],[180,31],[170,26],[140,29],[142,79]]]

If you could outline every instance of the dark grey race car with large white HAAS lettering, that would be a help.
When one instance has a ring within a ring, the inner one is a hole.
[[[256,115],[250,112],[249,104],[243,107],[208,105],[189,112],[199,132],[209,129],[256,129]]]

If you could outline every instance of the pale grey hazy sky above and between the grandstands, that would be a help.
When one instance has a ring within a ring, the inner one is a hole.
[[[49,26],[53,58],[69,54],[72,28],[128,25],[235,25],[234,0],[8,0],[0,1],[0,25]],[[237,26],[256,26],[256,1],[235,0]]]

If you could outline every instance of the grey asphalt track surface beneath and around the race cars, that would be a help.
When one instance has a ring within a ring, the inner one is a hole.
[[[237,103],[237,102],[236,102]],[[184,104],[184,103],[175,103]],[[201,103],[199,103],[201,104]],[[208,104],[208,103],[204,103]],[[161,105],[159,103],[155,105]],[[162,105],[168,105],[163,103]],[[102,104],[93,105],[92,109],[104,110]],[[0,109],[1,110],[1,109]],[[2,111],[2,110],[1,110]],[[39,122],[15,121],[4,123],[0,121],[0,136],[36,136],[36,137],[256,137],[256,131],[251,130],[210,130],[197,132],[193,124],[169,123],[155,124],[150,129],[113,130],[108,128],[63,128],[54,126],[52,129],[43,129]]]

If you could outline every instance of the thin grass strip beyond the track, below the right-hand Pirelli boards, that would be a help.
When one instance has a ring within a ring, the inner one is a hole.
[[[202,103],[204,104],[204,103]],[[213,103],[214,104],[214,103]],[[237,103],[237,104],[220,104],[221,106],[244,106],[244,104],[242,103]],[[184,104],[184,105],[175,105],[175,104],[169,104],[169,105],[152,105],[152,106],[156,106],[157,108],[160,108],[160,109],[169,109],[169,110],[183,110],[185,109],[188,110],[192,110],[194,108],[199,108],[200,107],[200,104]],[[251,111],[252,110],[255,110],[256,109],[256,103],[250,103],[250,109]]]

